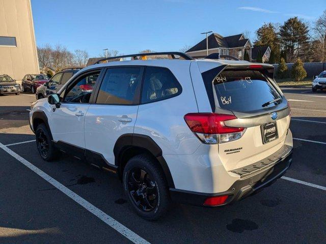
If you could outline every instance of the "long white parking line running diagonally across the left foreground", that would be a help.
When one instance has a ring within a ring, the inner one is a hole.
[[[44,173],[42,170],[31,164],[29,161],[25,160],[24,158],[20,157],[18,154],[16,154],[14,151],[9,149],[4,144],[0,143],[0,148],[4,149],[8,154],[10,154],[12,157],[17,159],[20,163],[28,167],[29,169],[33,170],[35,173],[37,173],[39,176],[41,176],[43,179],[45,179],[47,182],[49,182],[52,186],[56,187],[59,191],[66,194],[68,197],[70,197],[72,200],[77,202],[80,206],[83,206],[86,208],[89,212],[91,212],[93,215],[95,215],[97,218],[102,220],[105,224],[112,227],[116,231],[118,231],[120,234],[131,240],[133,243],[149,243],[147,240],[143,239],[138,234],[134,233],[115,219],[113,219],[111,216],[108,216],[91,204],[90,202],[86,201],[84,198],[80,197],[70,189],[66,188],[64,185],[62,185],[59,181],[53,179],[48,174]]]

